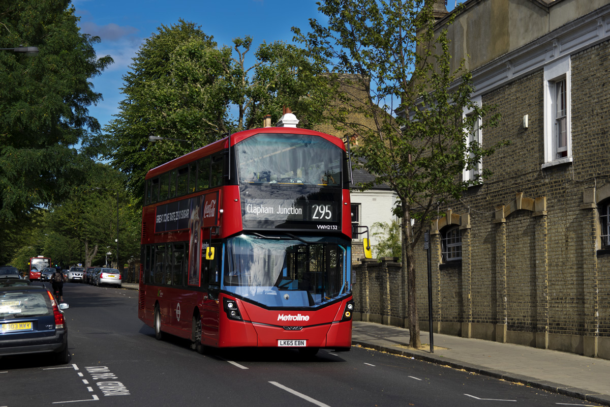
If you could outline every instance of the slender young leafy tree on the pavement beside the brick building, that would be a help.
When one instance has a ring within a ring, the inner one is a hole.
[[[481,118],[483,127],[493,126],[498,118],[492,108],[471,101],[472,76],[464,61],[451,68],[447,25],[437,29],[435,18],[439,11],[447,14],[443,1],[319,4],[328,21],[310,20],[307,34],[293,31],[310,55],[334,73],[331,78],[343,82],[337,93],[341,103],[329,106],[328,117],[357,139],[353,153],[375,175],[362,189],[387,184],[398,195],[395,214],[401,219],[407,287],[404,311],[410,345],[420,347],[415,247],[436,216],[437,203],[458,199],[468,185],[487,176],[481,172],[473,180],[462,180],[462,171],[477,168],[495,147],[468,143],[467,137]],[[453,23],[453,16],[448,20],[446,24]],[[350,93],[353,89],[364,90],[364,96]],[[367,120],[350,120],[353,117]]]

